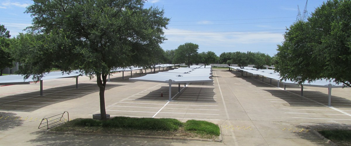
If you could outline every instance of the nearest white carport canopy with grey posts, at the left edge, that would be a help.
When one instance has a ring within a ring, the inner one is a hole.
[[[43,95],[43,80],[46,79],[54,79],[54,78],[69,78],[75,77],[75,87],[78,88],[78,76],[80,75],[79,72],[72,72],[72,73],[64,73],[62,74],[61,71],[52,71],[44,74],[44,77],[40,80],[40,95]],[[29,84],[30,82],[34,82],[32,79],[33,76],[29,76],[28,79],[24,80],[22,75],[7,75],[7,76],[0,76],[0,85],[18,85],[18,84]]]

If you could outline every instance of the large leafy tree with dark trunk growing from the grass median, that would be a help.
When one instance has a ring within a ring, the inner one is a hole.
[[[34,52],[24,55],[39,53],[37,58],[22,63],[21,73],[38,80],[50,68],[48,64],[57,64],[64,72],[79,69],[91,79],[97,77],[101,118],[106,119],[107,75],[117,67],[149,66],[150,53],[166,39],[163,29],[170,19],[164,17],[163,9],[144,8],[143,0],[33,1],[26,13],[33,17],[29,29],[35,38],[27,40],[39,39],[43,48],[33,48]],[[50,54],[56,56],[45,58]],[[28,70],[32,67],[26,66],[35,62],[44,64],[42,69]]]

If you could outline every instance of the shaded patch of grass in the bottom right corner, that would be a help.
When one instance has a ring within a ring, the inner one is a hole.
[[[351,130],[320,130],[318,132],[339,145],[351,144]]]

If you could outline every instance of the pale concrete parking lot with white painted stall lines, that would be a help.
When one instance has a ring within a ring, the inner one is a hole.
[[[227,145],[327,145],[306,128],[351,128],[350,88],[333,88],[332,107],[328,107],[327,88],[304,87],[304,96],[300,96],[300,87],[284,90],[277,88],[277,82],[271,85],[269,80],[262,82],[238,72],[214,70],[212,78],[213,83],[181,85],[179,93],[178,84],[172,85],[172,100],[168,101],[168,84],[132,82],[118,73],[107,83],[106,112],[111,116],[211,121],[220,126],[220,138]],[[44,96],[39,96],[39,84],[1,86],[0,91],[0,144],[13,142],[16,133],[25,135],[26,142],[15,144],[40,144],[33,141],[43,137],[35,128],[40,119],[63,111],[68,111],[71,119],[99,113],[98,87],[95,79],[87,77],[79,77],[77,89],[75,79],[44,81]]]

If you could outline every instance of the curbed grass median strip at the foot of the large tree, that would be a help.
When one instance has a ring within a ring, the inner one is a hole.
[[[51,128],[51,131],[148,135],[166,137],[218,139],[218,125],[199,120],[183,123],[171,118],[114,117],[108,120],[74,119]]]

